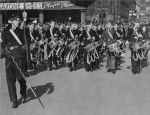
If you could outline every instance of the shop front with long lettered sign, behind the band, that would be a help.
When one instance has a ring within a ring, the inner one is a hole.
[[[51,20],[85,23],[85,7],[77,6],[70,1],[44,1],[0,3],[0,25],[7,23],[14,12],[22,17],[24,10],[28,19],[38,19],[40,23]]]

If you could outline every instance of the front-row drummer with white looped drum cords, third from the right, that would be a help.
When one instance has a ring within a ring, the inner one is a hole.
[[[84,63],[86,71],[93,71],[94,68],[98,67],[99,64],[99,55],[97,46],[94,45],[98,41],[98,36],[96,33],[96,28],[92,29],[92,24],[88,25],[86,33],[87,39],[85,40],[85,53],[84,53]]]

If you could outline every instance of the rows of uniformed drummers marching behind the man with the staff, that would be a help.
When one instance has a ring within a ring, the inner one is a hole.
[[[20,28],[23,25],[21,23]],[[48,60],[50,71],[64,64],[67,64],[70,71],[77,70],[79,64],[84,64],[86,71],[93,71],[100,68],[106,54],[107,72],[116,73],[127,48],[126,43],[129,43],[131,70],[136,74],[147,65],[150,49],[148,25],[138,22],[107,22],[99,25],[28,22],[26,37],[29,70],[36,69],[38,64]]]

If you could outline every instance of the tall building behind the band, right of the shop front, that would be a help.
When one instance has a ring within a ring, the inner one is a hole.
[[[128,19],[129,11],[135,8],[136,0],[96,0],[88,8],[86,15],[99,15],[100,19],[105,20]]]

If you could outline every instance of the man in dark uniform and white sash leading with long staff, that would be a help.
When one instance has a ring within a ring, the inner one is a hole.
[[[27,72],[27,53],[23,31],[19,28],[19,17],[11,17],[11,28],[2,33],[1,58],[5,57],[6,79],[12,108],[17,108],[16,80],[20,84],[22,101],[26,100],[26,81],[23,78]]]

